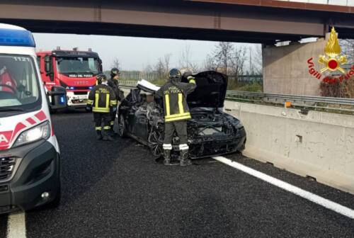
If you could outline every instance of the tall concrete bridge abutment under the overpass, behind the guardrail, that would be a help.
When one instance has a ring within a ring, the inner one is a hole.
[[[269,94],[319,96],[320,81],[309,74],[307,60],[314,58],[314,68],[320,69],[319,55],[324,55],[326,41],[263,47],[263,86]]]

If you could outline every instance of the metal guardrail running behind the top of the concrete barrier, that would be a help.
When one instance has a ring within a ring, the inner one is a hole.
[[[126,81],[125,81],[126,82]],[[132,83],[134,82],[134,83]],[[130,85],[122,85],[123,88],[135,87],[137,81],[131,81]],[[299,96],[291,94],[264,94],[248,91],[228,90],[227,100],[243,101],[247,103],[269,104],[270,106],[284,106],[285,102],[291,102],[292,108],[304,108],[315,111],[343,112],[354,115],[354,98],[331,98],[321,96]]]

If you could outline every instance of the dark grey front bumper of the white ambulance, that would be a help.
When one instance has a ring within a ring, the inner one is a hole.
[[[0,152],[0,159],[16,158],[11,176],[0,181],[0,213],[29,210],[49,203],[60,186],[60,157],[47,141]],[[42,193],[50,194],[42,198]]]

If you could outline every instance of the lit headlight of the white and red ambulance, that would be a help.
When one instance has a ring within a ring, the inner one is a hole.
[[[18,137],[13,147],[25,145],[28,143],[36,142],[41,139],[47,140],[50,137],[50,123],[46,121],[40,125],[36,125],[33,128],[25,130]]]

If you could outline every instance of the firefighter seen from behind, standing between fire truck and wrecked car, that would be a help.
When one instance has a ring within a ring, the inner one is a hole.
[[[115,92],[110,88],[110,86],[107,85],[108,82],[105,74],[98,74],[96,76],[96,80],[97,85],[90,91],[86,110],[91,111],[92,108],[97,139],[112,141],[113,138],[110,137],[109,130],[111,115],[117,111]]]

